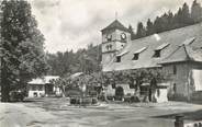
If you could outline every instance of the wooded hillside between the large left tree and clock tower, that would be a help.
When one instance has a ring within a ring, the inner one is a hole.
[[[75,72],[96,72],[101,70],[101,45],[90,44],[87,49],[79,49],[57,54],[47,54],[50,67],[48,74],[68,77]]]

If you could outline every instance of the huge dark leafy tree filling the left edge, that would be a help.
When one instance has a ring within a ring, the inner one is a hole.
[[[29,80],[44,74],[48,68],[44,37],[37,30],[30,3],[3,0],[1,10],[1,101],[8,102],[11,90],[25,88]]]

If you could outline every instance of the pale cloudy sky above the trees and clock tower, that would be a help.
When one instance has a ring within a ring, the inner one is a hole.
[[[134,28],[193,0],[30,0],[48,53],[78,50],[101,44],[100,30],[115,20]],[[202,0],[198,0],[202,3]],[[135,30],[134,30],[135,31]]]

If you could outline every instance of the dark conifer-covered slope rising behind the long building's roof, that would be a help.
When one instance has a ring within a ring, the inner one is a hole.
[[[154,21],[148,19],[146,25],[144,25],[142,22],[138,22],[136,32],[133,31],[132,25],[128,26],[128,30],[132,33],[132,39],[136,39],[152,35],[154,33],[161,33],[165,31],[192,25],[201,21],[202,7],[197,0],[194,0],[190,8],[184,2],[176,13],[172,13],[171,11],[165,12],[162,15],[156,16]]]

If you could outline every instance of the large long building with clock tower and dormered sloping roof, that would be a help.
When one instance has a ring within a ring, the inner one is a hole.
[[[134,41],[117,20],[101,32],[103,72],[158,68],[170,77],[170,96],[202,99],[202,23]]]

